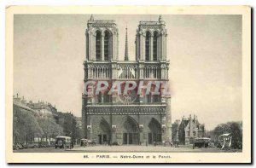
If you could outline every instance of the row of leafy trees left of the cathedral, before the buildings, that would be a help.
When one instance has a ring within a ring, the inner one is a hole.
[[[14,106],[13,136],[14,142],[26,143],[50,141],[56,136],[72,136],[79,138],[79,128],[73,115],[59,113],[63,122],[57,123],[51,114],[42,114],[37,111],[27,110]]]

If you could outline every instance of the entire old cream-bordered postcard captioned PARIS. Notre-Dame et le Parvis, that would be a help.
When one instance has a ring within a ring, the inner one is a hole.
[[[8,163],[250,163],[247,6],[6,7]]]

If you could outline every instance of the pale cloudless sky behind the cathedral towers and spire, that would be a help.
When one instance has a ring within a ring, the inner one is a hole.
[[[119,60],[135,60],[140,20],[159,15],[95,14],[115,20]],[[162,15],[172,88],[172,122],[195,114],[207,130],[241,120],[241,15]],[[89,14],[15,14],[14,94],[48,101],[61,112],[82,113],[85,30]]]

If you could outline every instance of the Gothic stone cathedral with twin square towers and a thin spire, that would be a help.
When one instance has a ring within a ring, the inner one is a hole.
[[[136,60],[128,55],[127,28],[124,55],[119,52],[119,31],[114,20],[95,20],[90,17],[85,32],[84,90],[82,121],[84,138],[96,144],[146,145],[172,140],[171,96],[162,94],[166,85],[160,83],[159,95],[150,88],[137,93],[118,94],[108,89],[119,81],[124,90],[126,81],[136,84],[168,82],[169,61],[166,54],[166,22],[142,20],[136,34]],[[124,60],[124,61],[123,61]],[[107,81],[108,88],[98,91],[99,81]],[[153,88],[157,88],[153,84]]]

